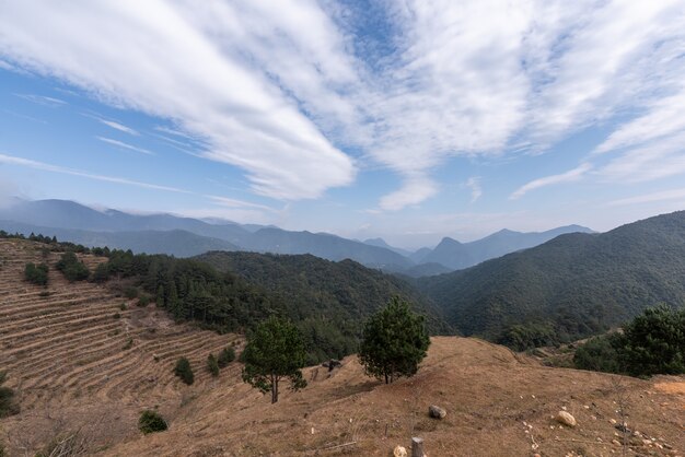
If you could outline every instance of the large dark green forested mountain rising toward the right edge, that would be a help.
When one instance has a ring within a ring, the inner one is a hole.
[[[417,284],[466,335],[585,337],[659,302],[685,303],[685,211],[603,234],[559,235]]]

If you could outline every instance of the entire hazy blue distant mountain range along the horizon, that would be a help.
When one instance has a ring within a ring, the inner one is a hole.
[[[135,253],[190,257],[208,250],[312,254],[328,260],[356,260],[367,267],[409,277],[467,268],[508,253],[530,248],[569,232],[591,232],[578,225],[543,233],[500,231],[472,243],[444,238],[434,249],[415,253],[390,246],[382,238],[364,242],[327,233],[292,232],[276,226],[241,225],[172,214],[97,211],[68,200],[20,200],[0,208],[0,230],[40,233],[85,246],[109,246]]]

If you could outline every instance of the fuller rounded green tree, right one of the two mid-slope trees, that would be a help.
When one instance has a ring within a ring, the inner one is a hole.
[[[414,313],[409,303],[393,297],[364,325],[359,361],[369,376],[390,384],[415,375],[429,345],[423,316]]]

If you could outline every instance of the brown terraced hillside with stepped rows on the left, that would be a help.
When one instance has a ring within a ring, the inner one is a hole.
[[[11,450],[35,450],[82,427],[106,447],[138,433],[141,409],[159,407],[172,419],[182,402],[216,383],[205,370],[207,355],[237,337],[175,325],[153,304],[138,307],[107,285],[68,283],[51,268],[59,255],[44,257],[42,248],[0,239],[0,370],[22,409],[0,422]],[[104,261],[82,259],[91,268]],[[30,261],[50,265],[47,288],[23,280]],[[179,356],[194,367],[190,387],[173,374]]]

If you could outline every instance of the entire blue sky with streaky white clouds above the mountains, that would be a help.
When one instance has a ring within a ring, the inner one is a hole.
[[[0,203],[382,236],[685,209],[685,0],[0,2]]]

